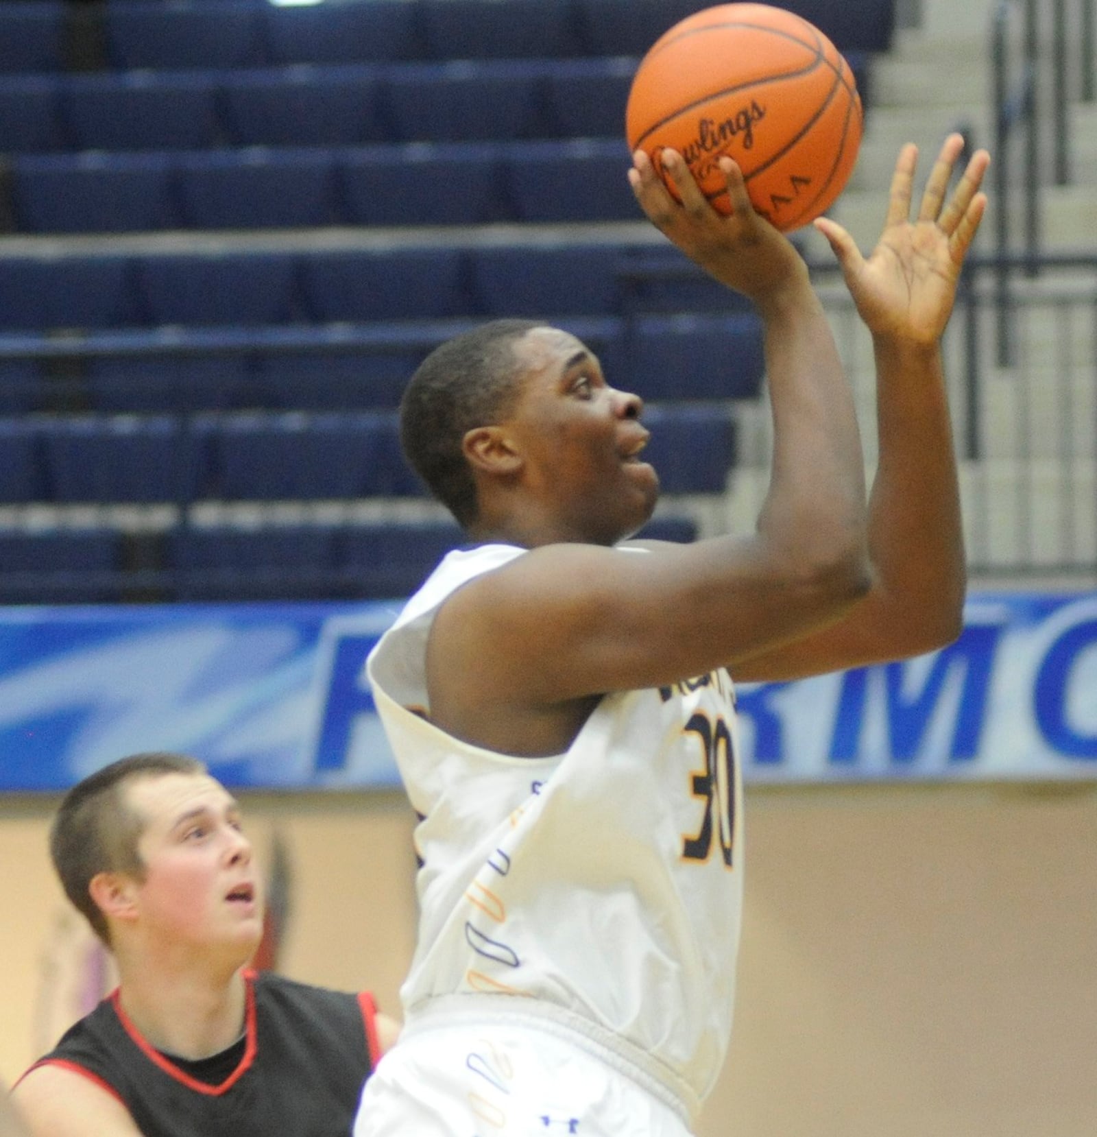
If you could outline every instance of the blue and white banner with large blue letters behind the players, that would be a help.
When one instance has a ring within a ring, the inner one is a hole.
[[[238,788],[392,787],[365,678],[396,604],[0,611],[0,790],[182,750]],[[1097,778],[1097,594],[980,595],[948,648],[741,684],[748,781]]]

